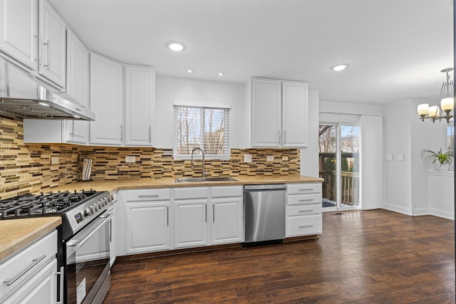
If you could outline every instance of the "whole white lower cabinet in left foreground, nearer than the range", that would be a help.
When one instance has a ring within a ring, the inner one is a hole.
[[[58,301],[57,231],[0,263],[0,303]]]

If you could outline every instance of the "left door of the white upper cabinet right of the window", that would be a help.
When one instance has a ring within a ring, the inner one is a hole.
[[[252,147],[279,147],[281,82],[252,79]]]

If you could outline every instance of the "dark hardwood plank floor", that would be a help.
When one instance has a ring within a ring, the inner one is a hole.
[[[316,240],[116,262],[104,303],[455,303],[453,221],[343,213]]]

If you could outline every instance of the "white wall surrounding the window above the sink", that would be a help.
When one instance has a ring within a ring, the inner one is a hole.
[[[155,147],[172,148],[173,103],[231,106],[231,147],[250,147],[250,102],[246,100],[245,84],[157,76],[155,88]]]

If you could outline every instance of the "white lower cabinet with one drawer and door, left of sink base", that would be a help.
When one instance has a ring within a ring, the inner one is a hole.
[[[170,248],[170,189],[129,190],[125,204],[125,253]],[[120,234],[120,231],[118,231]]]

